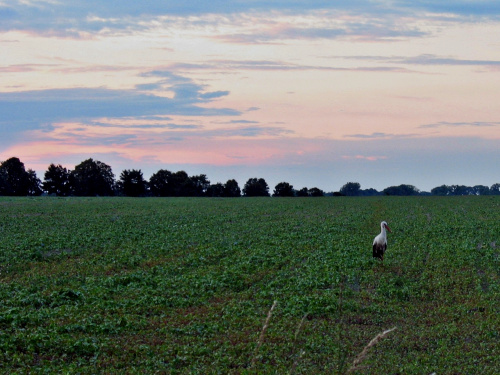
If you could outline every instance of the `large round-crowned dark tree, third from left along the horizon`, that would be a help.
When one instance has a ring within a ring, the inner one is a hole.
[[[78,196],[113,195],[115,175],[103,162],[87,159],[71,172],[74,192]]]

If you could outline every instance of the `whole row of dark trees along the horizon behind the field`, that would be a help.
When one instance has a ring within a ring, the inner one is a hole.
[[[36,173],[25,169],[19,158],[0,163],[0,195],[3,196],[129,196],[129,197],[256,197],[271,196],[263,178],[249,178],[243,189],[234,179],[211,184],[205,174],[189,176],[185,171],[160,169],[146,180],[141,170],[126,169],[118,180],[111,167],[92,158],[69,170],[60,164],[50,164],[43,182]],[[361,189],[357,182],[348,182],[338,192],[325,193],[314,187],[296,190],[288,182],[278,183],[274,197],[373,196],[373,195],[500,195],[500,184],[491,187],[476,185],[442,185],[430,192],[421,192],[413,185],[390,186],[381,192]]]

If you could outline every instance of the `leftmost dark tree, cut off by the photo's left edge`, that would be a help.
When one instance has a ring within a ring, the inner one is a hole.
[[[19,158],[12,157],[0,164],[0,195],[40,195],[41,181],[31,169],[24,168]]]

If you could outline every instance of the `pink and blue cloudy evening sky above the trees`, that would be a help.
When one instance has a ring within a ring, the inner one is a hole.
[[[0,0],[0,161],[500,182],[497,0]]]

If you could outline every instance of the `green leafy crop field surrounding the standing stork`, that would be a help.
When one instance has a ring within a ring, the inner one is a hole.
[[[500,373],[498,196],[2,197],[0,235],[2,373],[343,374],[393,327],[352,373]]]

